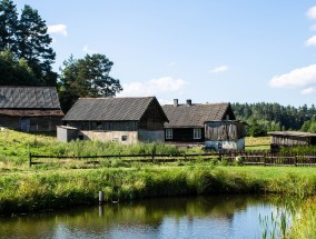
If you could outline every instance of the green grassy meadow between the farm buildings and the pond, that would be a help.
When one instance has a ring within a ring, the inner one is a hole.
[[[253,143],[253,145],[251,145]],[[268,143],[268,138],[247,138],[247,148]],[[179,149],[159,143],[122,146],[98,141],[57,142],[52,135],[0,131],[0,215],[60,209],[105,200],[137,200],[152,197],[215,193],[258,193],[297,196],[303,202],[300,219],[295,219],[292,238],[306,238],[316,228],[316,171],[310,167],[238,166],[195,160],[172,163],[126,163],[119,159],[99,165],[81,160],[57,160],[29,167],[28,155],[96,156],[112,153],[203,153],[201,148]],[[62,161],[62,162],[61,162]],[[305,200],[307,199],[307,200]],[[298,209],[297,209],[298,210]],[[310,221],[313,219],[313,221]],[[308,221],[308,226],[307,225]],[[312,230],[312,231],[310,231]],[[310,238],[310,237],[308,237]],[[312,237],[313,238],[313,237]]]

